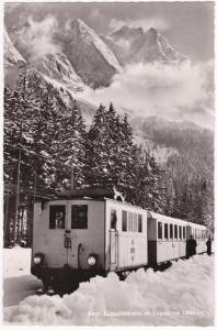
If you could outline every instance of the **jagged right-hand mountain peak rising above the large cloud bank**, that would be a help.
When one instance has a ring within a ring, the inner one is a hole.
[[[144,32],[141,28],[123,26],[108,36],[103,36],[103,40],[122,64],[155,61],[172,64],[186,58],[178,53],[155,28]]]

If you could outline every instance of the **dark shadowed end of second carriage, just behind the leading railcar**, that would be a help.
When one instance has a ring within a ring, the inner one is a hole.
[[[148,264],[157,264],[157,219],[148,212],[147,217]]]

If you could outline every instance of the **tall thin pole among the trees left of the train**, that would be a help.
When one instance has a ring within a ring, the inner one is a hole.
[[[12,238],[14,242],[16,241],[19,231],[19,204],[20,204],[20,175],[21,175],[21,142],[23,133],[23,122],[20,124],[20,141],[19,141],[19,157],[18,157],[18,173],[16,173],[16,190],[15,190],[15,215],[13,223],[13,234]]]

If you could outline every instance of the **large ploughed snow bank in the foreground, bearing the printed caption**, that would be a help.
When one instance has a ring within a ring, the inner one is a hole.
[[[19,324],[213,326],[214,256],[174,262],[165,272],[142,268],[121,282],[116,274],[82,283],[71,295],[32,296],[5,308]]]

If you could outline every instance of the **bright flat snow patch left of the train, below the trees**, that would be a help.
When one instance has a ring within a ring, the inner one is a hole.
[[[31,249],[3,249],[3,277],[31,274]]]

